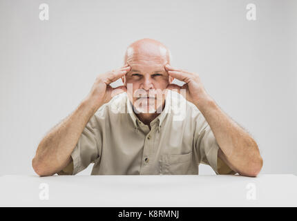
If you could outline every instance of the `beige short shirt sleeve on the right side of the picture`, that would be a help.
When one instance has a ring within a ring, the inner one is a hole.
[[[200,155],[200,163],[211,166],[216,174],[236,174],[235,171],[232,171],[232,169],[218,157],[220,146],[216,142],[213,131],[211,131],[211,127],[207,121],[201,116],[198,119],[200,119],[200,121],[196,122],[195,147]]]

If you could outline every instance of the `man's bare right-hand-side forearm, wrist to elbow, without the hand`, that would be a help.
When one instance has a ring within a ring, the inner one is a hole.
[[[196,106],[209,123],[229,164],[240,175],[256,176],[262,168],[262,158],[253,138],[224,113],[211,97],[207,96]]]

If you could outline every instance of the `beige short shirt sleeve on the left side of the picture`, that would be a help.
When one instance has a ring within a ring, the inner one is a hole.
[[[72,161],[58,175],[75,175],[89,164],[99,160],[101,154],[101,134],[95,115],[90,118],[71,153]]]

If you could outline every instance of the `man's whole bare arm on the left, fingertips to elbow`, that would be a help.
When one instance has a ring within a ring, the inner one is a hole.
[[[41,140],[32,160],[32,167],[38,175],[53,175],[71,162],[71,153],[90,117],[100,106],[109,102],[111,97],[126,91],[124,86],[112,88],[109,84],[126,75],[129,69],[129,66],[124,66],[99,75],[90,93],[76,110]]]

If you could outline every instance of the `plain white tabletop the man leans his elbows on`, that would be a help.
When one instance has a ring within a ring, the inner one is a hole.
[[[297,206],[297,177],[4,175],[0,206]]]

